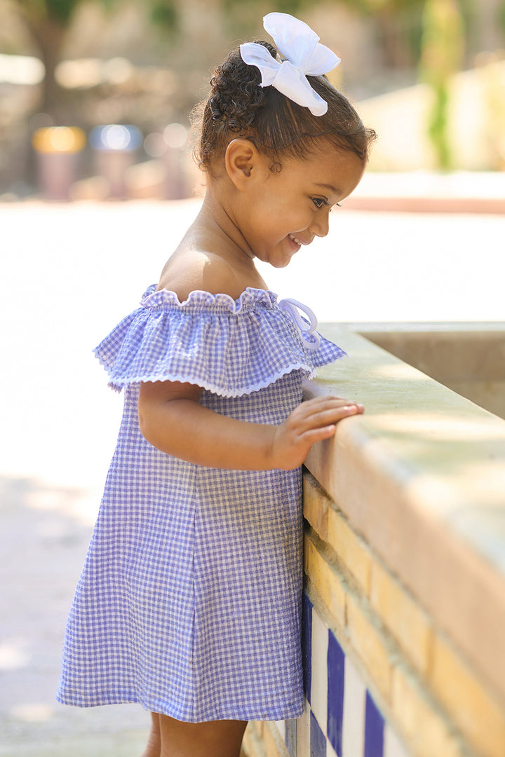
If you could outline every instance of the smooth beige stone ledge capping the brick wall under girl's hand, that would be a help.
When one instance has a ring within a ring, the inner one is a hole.
[[[338,326],[307,397],[364,403],[307,468],[505,701],[505,422]],[[500,528],[497,528],[500,527]]]

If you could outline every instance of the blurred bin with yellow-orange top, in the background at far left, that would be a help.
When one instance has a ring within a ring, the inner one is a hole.
[[[76,126],[46,126],[32,136],[39,191],[48,200],[68,200],[86,135]]]

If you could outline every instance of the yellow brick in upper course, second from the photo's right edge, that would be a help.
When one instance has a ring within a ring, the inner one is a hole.
[[[376,560],[372,562],[370,602],[410,662],[427,674],[433,643],[429,617]]]

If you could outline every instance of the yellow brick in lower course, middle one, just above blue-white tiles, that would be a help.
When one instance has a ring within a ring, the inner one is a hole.
[[[391,662],[385,642],[354,597],[347,597],[348,637],[386,701],[391,697]]]

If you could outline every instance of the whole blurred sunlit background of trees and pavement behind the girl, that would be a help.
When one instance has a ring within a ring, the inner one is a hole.
[[[503,321],[505,0],[0,0],[2,757],[142,752],[139,707],[55,702],[121,414],[91,348],[198,213],[189,112],[270,11],[379,134],[273,291],[322,322]]]

